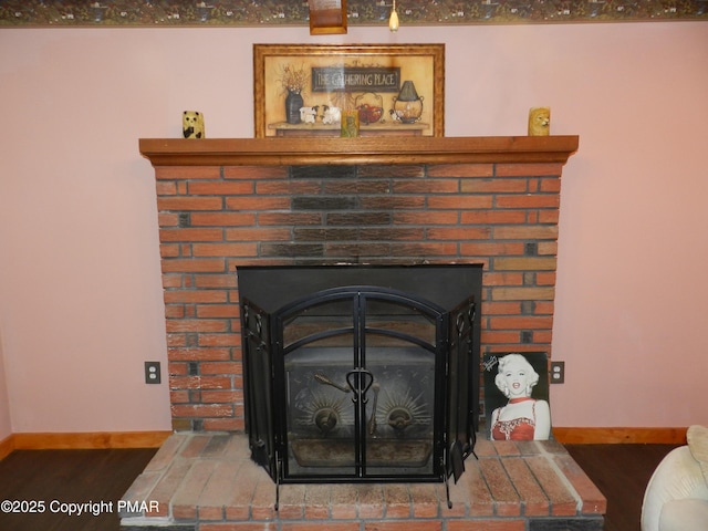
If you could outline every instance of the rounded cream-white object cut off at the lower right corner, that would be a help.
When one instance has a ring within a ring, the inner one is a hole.
[[[686,439],[647,485],[642,531],[708,531],[708,427],[689,427]]]

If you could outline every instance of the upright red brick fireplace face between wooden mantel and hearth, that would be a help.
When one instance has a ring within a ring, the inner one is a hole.
[[[550,355],[561,169],[157,167],[174,427],[243,429],[242,264],[483,263],[481,354]]]

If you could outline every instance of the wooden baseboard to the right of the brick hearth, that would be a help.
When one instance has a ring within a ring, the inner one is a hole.
[[[563,445],[685,445],[687,428],[553,428]]]

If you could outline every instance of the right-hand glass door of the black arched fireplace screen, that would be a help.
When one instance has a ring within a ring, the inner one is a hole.
[[[434,473],[436,382],[440,343],[436,315],[396,299],[367,298],[362,326],[366,394],[364,452],[368,477]],[[444,367],[444,365],[442,365]],[[437,409],[441,410],[440,407]]]

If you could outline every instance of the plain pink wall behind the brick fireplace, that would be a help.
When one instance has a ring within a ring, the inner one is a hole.
[[[563,174],[558,426],[708,424],[708,24],[0,31],[0,336],[11,428],[169,429],[139,137],[252,136],[252,43],[445,42],[446,134],[579,134]],[[0,373],[1,375],[1,373]],[[0,383],[0,399],[2,397]],[[2,437],[0,406],[0,438]]]

